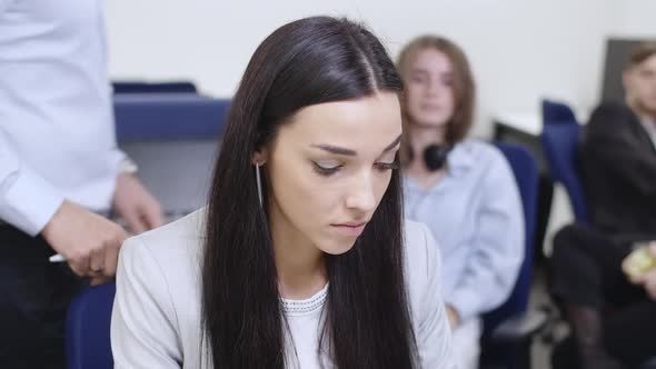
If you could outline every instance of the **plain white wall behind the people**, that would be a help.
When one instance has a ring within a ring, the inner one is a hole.
[[[111,0],[110,73],[191,79],[207,93],[228,97],[257,44],[277,27],[310,14],[346,14],[367,22],[392,56],[420,33],[460,43],[479,87],[475,134],[487,136],[494,112],[536,109],[543,96],[594,104],[605,36],[624,27],[618,22],[634,27],[634,14],[646,20],[640,3],[653,0],[634,2],[625,9],[623,0]]]

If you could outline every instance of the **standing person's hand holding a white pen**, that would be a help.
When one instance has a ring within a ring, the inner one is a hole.
[[[95,282],[116,275],[118,253],[126,231],[117,223],[69,201],[63,201],[41,231],[74,273]]]

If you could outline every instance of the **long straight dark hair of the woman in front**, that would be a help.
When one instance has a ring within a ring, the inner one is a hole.
[[[284,368],[286,320],[252,153],[299,109],[401,91],[385,48],[360,24],[315,17],[270,34],[252,56],[228,116],[207,208],[202,333],[213,368]],[[265,186],[266,188],[266,186]],[[319,345],[337,368],[414,368],[404,278],[398,171],[351,250],[326,256]],[[324,346],[325,345],[325,346]]]

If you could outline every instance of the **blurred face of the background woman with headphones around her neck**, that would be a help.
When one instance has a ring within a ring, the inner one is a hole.
[[[405,71],[406,108],[413,123],[439,127],[454,116],[454,69],[449,58],[436,49],[411,57]]]

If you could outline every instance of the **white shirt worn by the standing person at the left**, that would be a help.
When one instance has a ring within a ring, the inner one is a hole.
[[[118,167],[102,0],[0,0],[0,220],[110,208]]]

